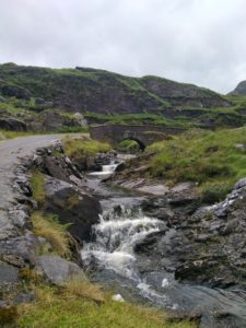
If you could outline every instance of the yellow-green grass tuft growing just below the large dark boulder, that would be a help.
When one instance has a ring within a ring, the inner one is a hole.
[[[67,224],[59,223],[55,215],[45,215],[42,212],[34,212],[31,221],[35,235],[46,238],[54,253],[66,258],[70,257],[71,236],[67,231]],[[42,253],[50,253],[50,250],[42,249]]]

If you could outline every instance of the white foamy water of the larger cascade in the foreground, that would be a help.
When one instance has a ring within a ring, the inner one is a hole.
[[[125,207],[120,207],[118,214],[107,212],[94,226],[95,242],[83,247],[82,260],[86,265],[96,261],[120,276],[138,280],[133,248],[149,234],[159,232],[162,225],[162,221],[144,216],[141,212],[133,214]]]

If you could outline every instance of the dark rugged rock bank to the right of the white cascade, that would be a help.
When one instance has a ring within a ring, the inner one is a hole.
[[[159,218],[168,230],[136,246],[141,256],[155,255],[141,270],[164,268],[177,280],[245,289],[245,204],[246,179],[238,181],[223,202],[199,208],[192,215],[178,213],[171,203],[163,204]]]

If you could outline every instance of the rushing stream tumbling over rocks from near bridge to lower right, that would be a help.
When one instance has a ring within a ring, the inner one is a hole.
[[[94,241],[81,251],[93,280],[109,285],[127,301],[201,315],[200,327],[246,327],[244,291],[177,282],[164,269],[141,270],[148,259],[136,254],[134,246],[150,234],[162,232],[165,223],[142,212],[145,196],[101,183],[115,167],[115,164],[106,165],[102,173],[87,176],[87,187],[99,198],[103,208],[99,223],[93,229]]]

